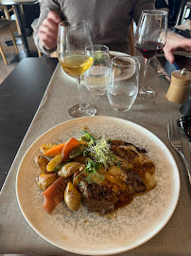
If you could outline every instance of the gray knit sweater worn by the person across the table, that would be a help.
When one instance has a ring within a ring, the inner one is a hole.
[[[110,47],[110,50],[128,52],[128,32],[131,20],[138,23],[143,9],[154,9],[154,0],[43,0],[38,25],[34,31],[36,46],[44,53],[38,30],[49,10],[55,10],[62,20],[86,20],[89,23],[93,44]]]

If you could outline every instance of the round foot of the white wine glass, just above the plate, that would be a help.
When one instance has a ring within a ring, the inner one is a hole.
[[[68,109],[68,115],[73,119],[92,117],[95,116],[95,114],[96,107],[87,103],[76,104]]]

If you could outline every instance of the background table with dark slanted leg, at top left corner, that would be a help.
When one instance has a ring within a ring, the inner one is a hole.
[[[19,5],[36,5],[39,1],[38,0],[0,0],[1,5],[12,5],[15,8],[15,12],[18,18],[19,27],[21,29],[22,39],[26,50],[26,57],[30,57],[31,53],[29,50],[29,46],[27,44],[26,38],[26,29],[23,24],[21,9]]]

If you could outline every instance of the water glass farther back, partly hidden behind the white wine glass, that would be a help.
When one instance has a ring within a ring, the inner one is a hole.
[[[91,53],[92,47],[86,47]],[[94,45],[94,64],[84,73],[83,78],[88,90],[96,95],[104,95],[110,82],[111,58],[109,47]]]

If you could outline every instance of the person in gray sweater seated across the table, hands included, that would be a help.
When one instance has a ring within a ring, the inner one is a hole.
[[[138,23],[142,9],[154,9],[152,0],[135,2],[133,6],[126,0],[62,0],[62,4],[57,0],[43,0],[39,23],[34,31],[35,44],[44,54],[51,54],[56,50],[61,20],[84,19],[89,23],[93,44],[128,53],[128,32],[132,19]],[[179,49],[191,52],[191,39],[168,32],[164,52],[169,63],[175,61],[173,52]]]

